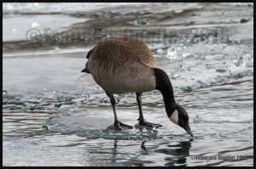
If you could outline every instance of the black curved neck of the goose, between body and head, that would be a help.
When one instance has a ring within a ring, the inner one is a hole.
[[[166,113],[171,116],[172,112],[175,110],[175,99],[172,89],[172,83],[164,70],[159,68],[154,68],[155,76],[155,89],[159,90],[163,95],[163,99],[166,106]]]

